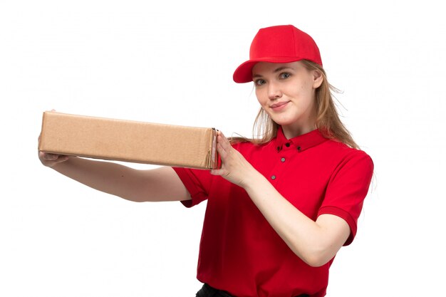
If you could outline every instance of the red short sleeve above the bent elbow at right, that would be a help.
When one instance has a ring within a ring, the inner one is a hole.
[[[334,214],[346,220],[351,233],[347,246],[356,236],[358,217],[373,176],[373,161],[363,151],[346,156],[333,172],[318,216]]]

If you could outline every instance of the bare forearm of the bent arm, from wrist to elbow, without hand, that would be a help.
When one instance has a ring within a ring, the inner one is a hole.
[[[296,209],[259,172],[251,176],[244,186],[249,197],[281,239],[299,258],[311,266],[321,266],[335,256],[348,233],[341,231],[339,236],[337,233],[331,233],[324,228],[323,224],[314,222]],[[337,220],[337,218],[330,219]],[[340,224],[345,223],[342,219],[339,220],[341,220]],[[345,227],[341,228],[341,230],[345,229]]]

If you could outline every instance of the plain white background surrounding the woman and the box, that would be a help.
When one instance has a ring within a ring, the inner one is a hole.
[[[316,40],[375,162],[328,296],[444,296],[440,2],[0,1],[0,296],[195,296],[205,203],[128,202],[43,167],[41,114],[250,136],[258,103],[232,73],[258,29],[278,24]]]

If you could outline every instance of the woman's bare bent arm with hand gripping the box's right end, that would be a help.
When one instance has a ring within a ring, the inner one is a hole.
[[[350,235],[346,221],[332,214],[323,214],[316,222],[306,217],[234,150],[221,132],[217,150],[222,157],[222,169],[211,173],[243,187],[297,256],[310,266],[322,266],[336,255]]]

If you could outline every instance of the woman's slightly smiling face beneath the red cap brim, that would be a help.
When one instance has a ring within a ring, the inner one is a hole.
[[[308,71],[300,61],[256,63],[252,80],[257,100],[287,138],[310,132],[316,127],[315,94],[322,81],[320,71]]]

